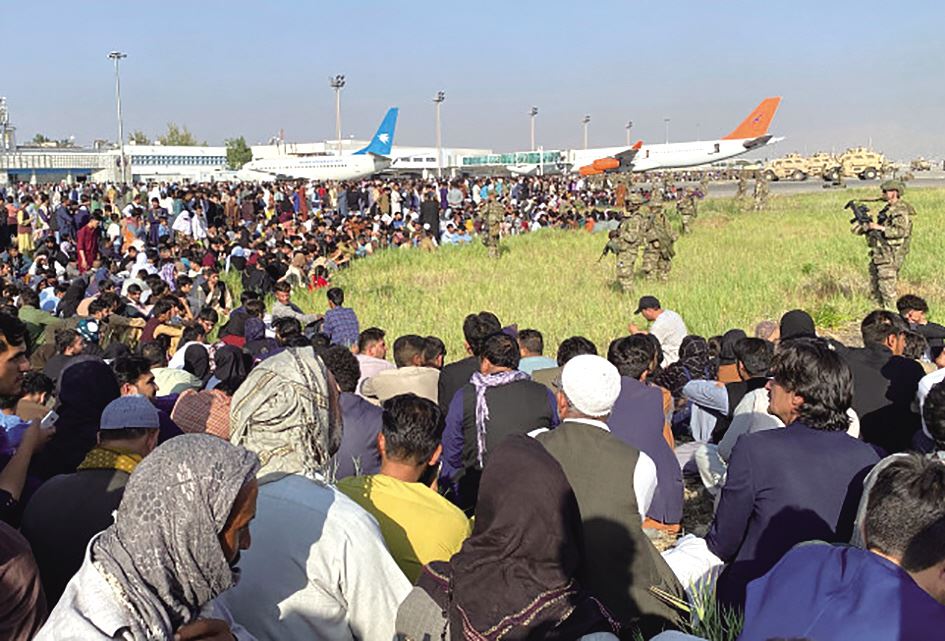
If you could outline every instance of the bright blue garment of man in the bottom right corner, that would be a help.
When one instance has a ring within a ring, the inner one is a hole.
[[[738,641],[941,639],[945,606],[886,559],[854,547],[799,546],[748,586]]]

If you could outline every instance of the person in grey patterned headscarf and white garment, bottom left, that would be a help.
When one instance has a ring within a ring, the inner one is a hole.
[[[158,447],[36,641],[252,638],[213,600],[235,584],[249,548],[258,469],[255,454],[203,434]]]

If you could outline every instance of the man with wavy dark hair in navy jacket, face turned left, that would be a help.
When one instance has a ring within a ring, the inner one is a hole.
[[[782,343],[771,374],[768,412],[787,427],[738,439],[706,535],[728,564],[717,594],[729,606],[797,543],[849,541],[863,478],[879,460],[846,433],[853,375],[825,342]]]

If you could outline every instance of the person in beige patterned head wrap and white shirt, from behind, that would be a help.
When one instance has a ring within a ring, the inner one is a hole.
[[[230,441],[259,454],[259,518],[225,597],[261,638],[391,639],[410,583],[377,522],[329,483],[339,392],[311,347],[260,363],[233,396]]]

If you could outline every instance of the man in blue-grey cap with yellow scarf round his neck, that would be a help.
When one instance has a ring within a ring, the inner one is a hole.
[[[158,411],[144,396],[105,406],[98,446],[78,470],[44,483],[26,507],[23,535],[33,546],[52,608],[82,565],[92,537],[112,524],[131,472],[158,441]]]

